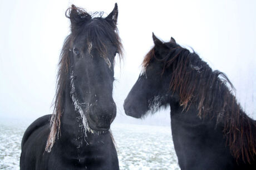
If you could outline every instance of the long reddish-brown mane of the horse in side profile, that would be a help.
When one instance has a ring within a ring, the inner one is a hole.
[[[165,45],[168,46],[168,43]],[[228,88],[227,82],[234,89],[232,83],[224,73],[211,70],[196,53],[190,53],[178,44],[172,45],[175,47],[168,46],[169,53],[161,59],[156,58],[156,47],[152,48],[142,66],[146,69],[153,58],[163,62],[162,75],[166,70],[170,71],[169,90],[179,94],[184,110],[195,105],[199,117],[216,117],[216,125],[223,123],[223,134],[233,156],[250,163],[256,155],[256,121],[245,114]]]

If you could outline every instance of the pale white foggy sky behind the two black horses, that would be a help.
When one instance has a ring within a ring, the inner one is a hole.
[[[136,120],[122,104],[153,45],[151,34],[174,37],[192,47],[213,69],[228,75],[237,99],[255,113],[256,1],[0,1],[0,119],[33,120],[51,114],[57,63],[69,33],[65,11],[71,4],[88,12],[119,6],[118,28],[125,58],[116,61],[115,122],[169,125],[170,108]]]

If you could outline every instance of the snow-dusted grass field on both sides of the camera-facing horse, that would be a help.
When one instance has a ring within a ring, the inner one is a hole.
[[[0,169],[19,169],[21,140],[31,122],[0,120]],[[170,126],[114,123],[120,169],[180,169]]]

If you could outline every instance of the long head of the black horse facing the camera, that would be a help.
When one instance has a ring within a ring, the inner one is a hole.
[[[116,116],[112,98],[114,58],[121,52],[115,32],[117,11],[106,18],[92,19],[87,13],[71,9],[67,17],[71,20],[73,35],[72,39],[68,37],[70,44],[66,44],[70,53],[73,104],[81,117],[85,116],[87,128],[109,130]]]

